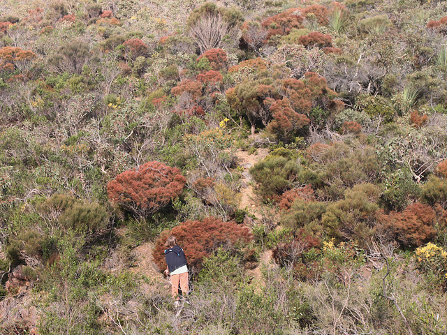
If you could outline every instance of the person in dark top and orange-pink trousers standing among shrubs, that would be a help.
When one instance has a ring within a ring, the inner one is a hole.
[[[183,249],[177,244],[177,238],[173,235],[168,237],[165,243],[165,259],[168,269],[164,272],[167,276],[170,275],[170,285],[173,298],[175,299],[175,306],[180,306],[179,301],[179,283],[182,290],[182,297],[187,302],[186,295],[188,294],[188,262],[184,255]]]

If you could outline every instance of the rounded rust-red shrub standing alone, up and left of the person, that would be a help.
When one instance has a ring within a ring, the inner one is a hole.
[[[118,174],[108,182],[107,193],[111,202],[147,217],[177,199],[185,184],[179,169],[152,161]]]

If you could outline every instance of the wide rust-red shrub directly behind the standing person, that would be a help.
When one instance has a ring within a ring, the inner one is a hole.
[[[211,255],[219,247],[228,251],[237,250],[240,244],[251,241],[252,234],[247,227],[234,222],[223,222],[219,218],[205,218],[203,221],[186,221],[177,225],[173,230],[165,230],[155,243],[152,256],[160,271],[166,269],[163,251],[166,239],[174,235],[177,237],[193,271],[200,271],[203,258]]]

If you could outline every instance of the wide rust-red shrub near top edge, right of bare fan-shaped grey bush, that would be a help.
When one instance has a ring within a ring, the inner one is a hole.
[[[288,35],[291,33],[292,29],[301,29],[303,27],[302,21],[303,17],[299,15],[299,8],[291,8],[286,10],[284,13],[280,13],[271,17],[268,17],[261,23],[263,29],[268,31],[265,38],[265,43],[275,35]]]

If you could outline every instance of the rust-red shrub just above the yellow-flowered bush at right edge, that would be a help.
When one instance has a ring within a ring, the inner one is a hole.
[[[434,218],[436,213],[432,207],[418,202],[409,205],[402,212],[379,212],[377,219],[379,230],[399,241],[404,246],[420,246],[436,235]]]

